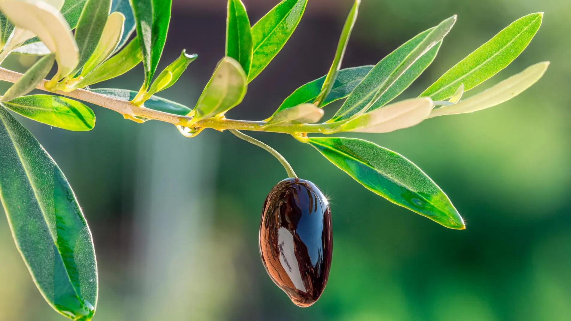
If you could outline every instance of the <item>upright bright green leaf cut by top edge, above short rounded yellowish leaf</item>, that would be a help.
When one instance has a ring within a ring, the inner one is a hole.
[[[240,0],[228,0],[226,23],[226,56],[236,59],[246,75],[252,65],[252,32],[246,7]]]

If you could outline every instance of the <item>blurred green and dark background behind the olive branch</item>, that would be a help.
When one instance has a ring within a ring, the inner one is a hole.
[[[278,0],[244,3],[255,22]],[[228,117],[264,119],[324,75],[350,6],[309,0],[295,34]],[[435,62],[403,94],[412,97],[510,22],[538,11],[544,23],[528,49],[472,91],[550,60],[524,94],[474,114],[358,136],[419,165],[463,214],[465,231],[376,196],[291,137],[253,134],[331,199],[331,275],[309,308],[289,302],[259,259],[262,203],[285,178],[262,149],[212,130],[186,139],[172,125],[135,124],[100,107],[85,133],[23,119],[66,173],[93,231],[95,320],[571,320],[571,2],[363,0],[344,67],[375,64],[458,14]],[[159,69],[183,48],[199,59],[161,96],[195,104],[224,54],[225,14],[224,0],[174,1]],[[3,66],[23,71],[32,62],[13,55]],[[142,77],[139,66],[98,87],[137,90]],[[35,289],[0,220],[0,321],[14,320],[65,318]]]

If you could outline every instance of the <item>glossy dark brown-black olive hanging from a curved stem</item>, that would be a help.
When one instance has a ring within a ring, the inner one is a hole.
[[[300,307],[323,293],[333,237],[327,198],[299,178],[279,182],[268,194],[259,234],[260,256],[270,278]]]

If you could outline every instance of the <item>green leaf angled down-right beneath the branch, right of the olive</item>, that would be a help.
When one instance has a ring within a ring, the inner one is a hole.
[[[465,229],[446,194],[405,157],[361,139],[315,137],[307,143],[373,193],[451,229]]]

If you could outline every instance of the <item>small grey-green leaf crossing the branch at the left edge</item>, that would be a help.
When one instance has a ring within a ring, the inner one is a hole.
[[[26,73],[18,79],[2,96],[0,101],[9,101],[16,97],[26,95],[34,90],[39,83],[47,76],[54,65],[55,54],[49,54],[39,59],[31,66]]]

